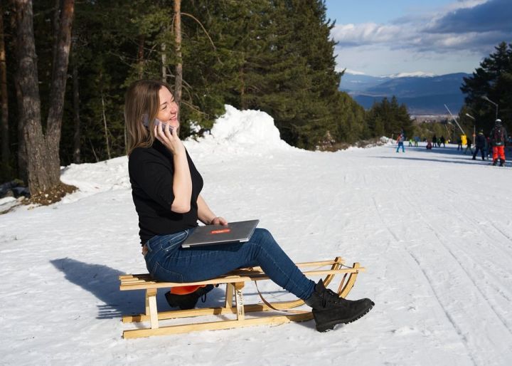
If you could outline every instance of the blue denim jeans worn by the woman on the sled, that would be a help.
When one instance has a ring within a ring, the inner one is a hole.
[[[144,259],[153,278],[168,282],[195,282],[215,278],[237,268],[261,266],[272,281],[305,300],[315,283],[304,276],[266,229],[255,229],[250,241],[181,248],[193,229],[153,236]]]

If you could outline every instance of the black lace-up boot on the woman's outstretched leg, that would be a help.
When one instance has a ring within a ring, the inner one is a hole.
[[[319,332],[331,330],[336,324],[352,323],[368,313],[375,305],[369,298],[360,300],[340,298],[337,293],[325,288],[322,280],[316,283],[313,294],[304,302],[313,308],[316,330]]]

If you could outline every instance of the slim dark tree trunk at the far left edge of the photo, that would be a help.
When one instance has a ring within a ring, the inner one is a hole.
[[[1,155],[4,169],[9,167],[9,102],[7,98],[7,64],[4,43],[4,9],[0,4],[0,93],[1,93]]]

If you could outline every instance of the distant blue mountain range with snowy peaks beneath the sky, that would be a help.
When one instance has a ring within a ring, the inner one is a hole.
[[[459,113],[464,104],[464,94],[460,90],[462,78],[470,75],[412,73],[370,76],[346,72],[341,77],[339,90],[346,91],[366,109],[384,97],[391,99],[395,95],[398,103],[407,105],[411,115],[446,114],[445,104],[452,113]]]

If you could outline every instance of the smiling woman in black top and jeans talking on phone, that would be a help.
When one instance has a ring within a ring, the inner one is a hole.
[[[178,137],[178,105],[171,88],[156,80],[133,83],[127,90],[124,120],[130,136],[129,177],[142,252],[156,280],[203,281],[236,268],[261,266],[272,281],[313,308],[319,331],[351,323],[373,307],[367,298],[339,298],[321,280],[315,285],[265,229],[255,229],[250,241],[243,244],[181,248],[198,220],[206,225],[228,222],[215,215],[201,197],[203,179]],[[174,296],[173,302],[182,305],[179,296]]]

